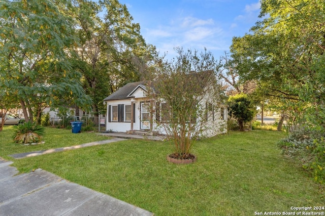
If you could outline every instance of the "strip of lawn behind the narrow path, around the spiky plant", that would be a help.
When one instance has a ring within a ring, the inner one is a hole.
[[[14,143],[12,139],[13,135],[13,126],[5,126],[3,131],[0,132],[0,157],[12,160],[8,155],[75,146],[83,143],[109,139],[107,136],[96,135],[95,133],[83,132],[80,134],[73,134],[71,129],[45,127],[44,144],[24,146],[22,144]]]

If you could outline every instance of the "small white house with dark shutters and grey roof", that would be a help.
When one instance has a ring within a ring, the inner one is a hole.
[[[160,134],[167,134],[164,128],[157,124],[157,121],[161,120],[159,114],[150,113],[148,110],[150,101],[146,97],[146,88],[144,81],[127,83],[104,99],[104,103],[107,105],[106,131],[124,133],[155,131]],[[161,103],[159,106],[159,110],[163,111],[164,104]],[[207,103],[206,109],[209,129],[203,136],[212,137],[226,133],[228,118],[226,106]]]

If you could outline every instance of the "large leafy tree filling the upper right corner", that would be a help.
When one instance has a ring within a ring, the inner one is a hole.
[[[291,110],[303,111],[303,121],[324,128],[323,0],[263,0],[260,17],[250,34],[233,39],[240,75],[256,80],[270,97],[285,99]]]

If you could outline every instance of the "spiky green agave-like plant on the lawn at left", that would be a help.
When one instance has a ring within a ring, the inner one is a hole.
[[[44,135],[44,127],[36,123],[24,122],[14,127],[13,139],[16,143],[38,143]]]

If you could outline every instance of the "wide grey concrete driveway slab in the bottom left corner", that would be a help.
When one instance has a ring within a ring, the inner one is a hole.
[[[0,159],[0,215],[153,215],[42,169],[17,175],[11,163]]]

